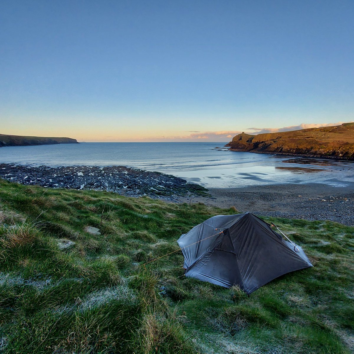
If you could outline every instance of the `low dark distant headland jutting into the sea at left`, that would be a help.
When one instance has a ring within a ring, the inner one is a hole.
[[[76,139],[72,138],[46,138],[40,136],[19,136],[0,134],[0,147],[53,144],[79,144],[79,142],[76,141]]]

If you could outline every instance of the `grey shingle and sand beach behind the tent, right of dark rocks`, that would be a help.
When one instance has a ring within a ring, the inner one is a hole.
[[[354,226],[354,182],[347,187],[321,183],[267,184],[242,188],[212,188],[210,197],[179,198],[240,212],[306,220],[331,220]]]

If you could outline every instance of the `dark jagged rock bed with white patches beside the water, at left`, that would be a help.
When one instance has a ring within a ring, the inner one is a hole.
[[[181,195],[204,195],[207,191],[182,178],[124,166],[30,167],[0,164],[0,178],[42,187],[106,190],[125,196],[148,195],[168,200]]]

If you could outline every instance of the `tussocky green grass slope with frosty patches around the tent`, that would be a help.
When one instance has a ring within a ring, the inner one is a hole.
[[[0,352],[350,353],[354,228],[272,219],[314,268],[247,297],[183,276],[176,240],[234,213],[0,180]],[[84,232],[90,225],[101,235]],[[65,244],[60,249],[58,240]],[[161,286],[165,296],[159,295]]]

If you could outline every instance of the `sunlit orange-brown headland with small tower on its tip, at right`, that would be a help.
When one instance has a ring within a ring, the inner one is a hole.
[[[266,134],[239,134],[232,151],[354,160],[354,123]]]

